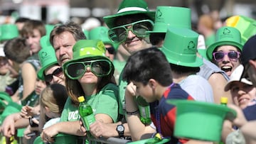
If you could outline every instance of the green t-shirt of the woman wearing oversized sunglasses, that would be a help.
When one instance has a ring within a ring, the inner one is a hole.
[[[92,96],[85,96],[87,104],[92,106],[94,114],[105,113],[117,122],[118,114],[118,97],[119,89],[115,84],[107,84],[102,90]],[[68,97],[63,112],[61,113],[60,121],[78,121],[80,118],[78,106],[71,103]]]

